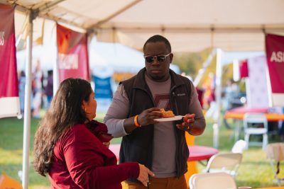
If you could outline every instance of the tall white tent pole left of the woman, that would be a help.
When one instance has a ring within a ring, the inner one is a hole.
[[[28,156],[31,137],[31,65],[33,48],[33,11],[28,13],[28,37],[26,39],[26,86],[25,86],[25,111],[23,118],[23,189],[28,189]]]

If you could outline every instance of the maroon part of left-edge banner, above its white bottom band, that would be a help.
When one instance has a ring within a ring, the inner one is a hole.
[[[14,9],[0,4],[0,98],[18,96]]]

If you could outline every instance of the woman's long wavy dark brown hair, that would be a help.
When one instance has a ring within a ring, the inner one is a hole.
[[[89,101],[91,93],[92,87],[84,79],[65,79],[60,84],[50,108],[35,132],[33,166],[40,175],[45,176],[50,170],[53,164],[53,148],[63,132],[87,120],[82,102]]]

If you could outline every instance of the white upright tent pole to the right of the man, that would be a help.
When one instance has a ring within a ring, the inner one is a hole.
[[[216,87],[215,87],[215,97],[216,97],[216,109],[213,124],[213,147],[219,147],[219,127],[221,126],[220,110],[221,110],[221,95],[222,95],[222,50],[217,49],[216,56]]]

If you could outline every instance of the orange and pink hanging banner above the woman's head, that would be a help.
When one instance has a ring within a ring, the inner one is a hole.
[[[87,33],[57,24],[59,81],[75,77],[89,80]]]

